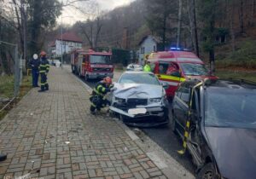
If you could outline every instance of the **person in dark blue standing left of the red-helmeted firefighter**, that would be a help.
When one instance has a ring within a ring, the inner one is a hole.
[[[32,87],[39,87],[38,86],[38,77],[39,77],[39,66],[40,61],[38,60],[38,55],[34,54],[31,61],[29,61],[29,66],[32,68]]]

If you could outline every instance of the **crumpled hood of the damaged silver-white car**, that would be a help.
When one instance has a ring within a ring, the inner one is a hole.
[[[152,84],[114,84],[117,90],[113,95],[119,98],[160,98],[163,95],[163,87]]]

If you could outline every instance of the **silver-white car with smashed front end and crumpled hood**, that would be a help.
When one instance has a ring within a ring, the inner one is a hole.
[[[152,72],[124,72],[114,84],[110,110],[125,124],[155,126],[168,124],[168,84],[160,84]]]

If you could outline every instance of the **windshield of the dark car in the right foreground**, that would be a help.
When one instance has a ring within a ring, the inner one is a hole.
[[[206,97],[205,124],[256,129],[255,107],[256,91],[210,90]]]

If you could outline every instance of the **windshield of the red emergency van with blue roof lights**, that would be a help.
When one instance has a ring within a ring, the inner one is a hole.
[[[181,67],[185,75],[191,76],[207,76],[208,70],[206,66],[199,63],[181,63]]]

